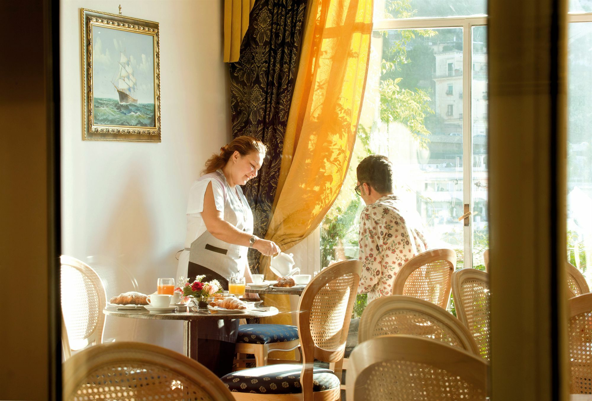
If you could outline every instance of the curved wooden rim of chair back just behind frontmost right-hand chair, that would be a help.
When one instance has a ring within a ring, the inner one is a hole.
[[[429,318],[433,320],[441,322],[443,325],[448,327],[456,335],[456,337],[458,337],[462,344],[461,349],[468,351],[469,353],[479,355],[479,348],[477,347],[477,343],[473,339],[471,333],[466,328],[466,326],[461,323],[461,321],[452,315],[452,313],[446,312],[444,309],[434,305],[431,302],[407,295],[384,296],[369,303],[368,306],[366,306],[366,309],[364,309],[362,318],[360,319],[358,344],[362,344],[364,341],[375,338],[374,328],[382,319],[382,316],[394,311],[411,311],[422,313],[423,315],[429,316]],[[404,334],[425,337],[430,333],[426,332],[422,334],[421,332],[416,332]]]

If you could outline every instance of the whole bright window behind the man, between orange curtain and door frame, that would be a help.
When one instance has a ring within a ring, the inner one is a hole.
[[[449,7],[438,0],[387,0],[375,5],[358,138],[343,190],[321,224],[321,266],[358,256],[358,219],[365,205],[351,190],[355,169],[368,154],[384,154],[393,163],[395,193],[419,214],[429,247],[454,249],[458,268],[483,269],[487,20],[478,16],[485,12],[485,0],[462,2],[468,3]],[[390,85],[395,81],[396,88]],[[455,92],[459,95],[451,96]],[[455,110],[458,117],[452,118]],[[478,215],[466,227],[458,221],[465,205]],[[363,304],[363,296],[358,297],[354,315]]]

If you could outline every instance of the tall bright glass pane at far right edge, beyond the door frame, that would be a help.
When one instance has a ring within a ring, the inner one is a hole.
[[[567,254],[590,282],[592,271],[592,22],[569,26]]]

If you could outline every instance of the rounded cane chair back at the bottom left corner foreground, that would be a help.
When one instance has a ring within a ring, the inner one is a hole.
[[[83,350],[63,365],[64,400],[233,400],[197,361],[156,345],[114,342]]]

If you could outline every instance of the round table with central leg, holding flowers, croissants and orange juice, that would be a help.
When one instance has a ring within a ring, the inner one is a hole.
[[[219,319],[249,319],[265,318],[278,314],[278,309],[274,306],[260,306],[251,309],[246,313],[232,313],[222,315],[220,313],[210,313],[210,311],[199,312],[169,312],[169,313],[150,313],[146,309],[118,309],[116,306],[107,306],[103,313],[109,316],[131,319],[157,319],[157,320],[182,320],[184,326],[183,333],[183,351],[186,356],[197,361],[197,334],[200,321],[219,320]]]

